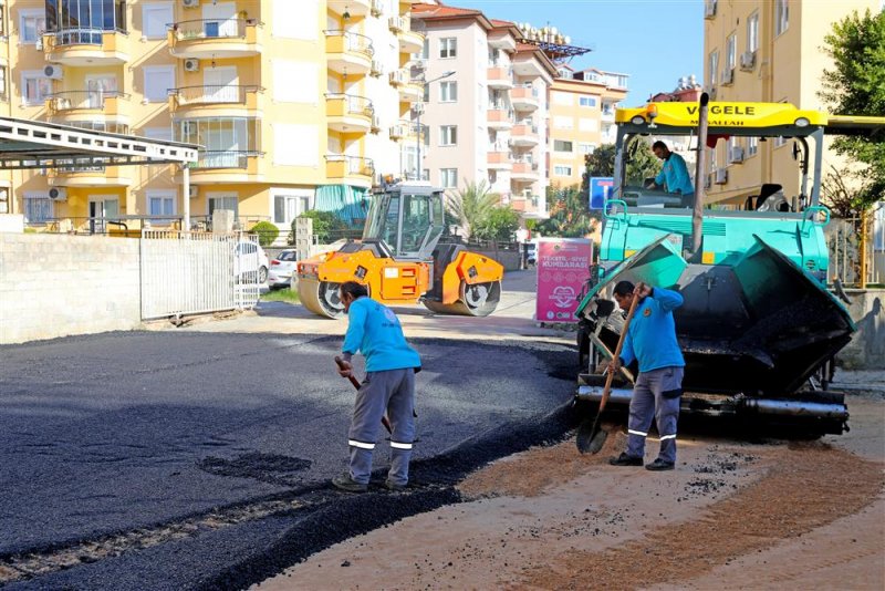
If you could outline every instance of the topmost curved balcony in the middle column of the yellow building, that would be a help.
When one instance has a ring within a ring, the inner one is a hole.
[[[194,20],[169,28],[169,53],[176,58],[216,60],[261,53],[263,25],[256,19]]]

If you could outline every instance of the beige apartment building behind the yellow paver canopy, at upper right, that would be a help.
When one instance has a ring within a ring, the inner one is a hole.
[[[834,22],[853,11],[882,10],[881,0],[801,2],[753,0],[705,1],[705,90],[714,101],[792,103],[821,110],[821,73],[832,68],[821,51]],[[792,199],[800,193],[800,174],[792,143],[756,138],[720,141],[706,178],[708,203],[741,207],[762,183],[783,186]],[[829,151],[824,169],[840,159]]]

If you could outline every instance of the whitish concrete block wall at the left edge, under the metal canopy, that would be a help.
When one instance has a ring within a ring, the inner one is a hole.
[[[132,330],[138,240],[0,232],[0,343]]]

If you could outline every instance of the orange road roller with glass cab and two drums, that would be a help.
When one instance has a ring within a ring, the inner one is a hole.
[[[440,314],[486,317],[501,299],[503,267],[462,245],[440,243],[445,194],[398,183],[372,195],[363,238],[298,263],[298,292],[311,312],[341,318],[339,287],[357,281],[387,305],[421,302]]]

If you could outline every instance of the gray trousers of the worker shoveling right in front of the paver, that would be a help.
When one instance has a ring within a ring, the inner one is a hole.
[[[676,423],[679,418],[679,398],[683,392],[683,367],[660,367],[641,372],[636,377],[629,401],[627,422],[627,455],[645,456],[645,438],[656,419],[660,437],[658,457],[676,463]]]

